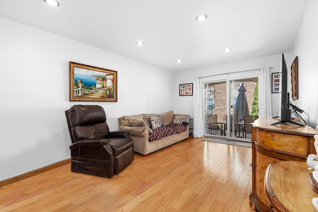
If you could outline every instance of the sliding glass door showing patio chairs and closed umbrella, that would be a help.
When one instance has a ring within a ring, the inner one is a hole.
[[[249,124],[258,118],[258,77],[207,81],[203,86],[205,136],[250,140]]]

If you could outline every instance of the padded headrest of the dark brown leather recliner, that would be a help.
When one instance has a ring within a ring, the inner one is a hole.
[[[74,105],[69,110],[72,127],[91,125],[106,121],[104,109],[99,105]]]

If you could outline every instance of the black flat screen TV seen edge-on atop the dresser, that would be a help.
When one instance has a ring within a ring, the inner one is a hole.
[[[288,71],[287,71],[286,61],[284,58],[284,53],[282,53],[281,71],[282,71],[282,75],[280,78],[280,83],[281,83],[280,121],[273,123],[271,125],[277,125],[277,124],[288,122],[288,123],[292,123],[295,125],[304,126],[304,125],[299,124],[297,122],[291,121],[292,110],[289,108],[289,98],[288,98],[288,92],[287,92]]]

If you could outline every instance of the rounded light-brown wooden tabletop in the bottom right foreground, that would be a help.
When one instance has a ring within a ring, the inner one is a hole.
[[[265,191],[275,212],[317,212],[312,204],[318,193],[311,186],[306,162],[280,161],[268,166]]]

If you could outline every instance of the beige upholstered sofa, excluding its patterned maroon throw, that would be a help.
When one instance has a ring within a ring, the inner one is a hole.
[[[151,152],[189,138],[189,126],[187,126],[186,131],[182,133],[173,134],[150,142],[149,135],[152,133],[150,117],[155,116],[160,116],[163,126],[167,126],[172,124],[176,116],[180,117],[189,115],[174,114],[173,111],[168,111],[163,114],[139,114],[118,118],[119,130],[129,131],[129,135],[134,141],[135,152],[138,152],[143,156],[148,156]]]

